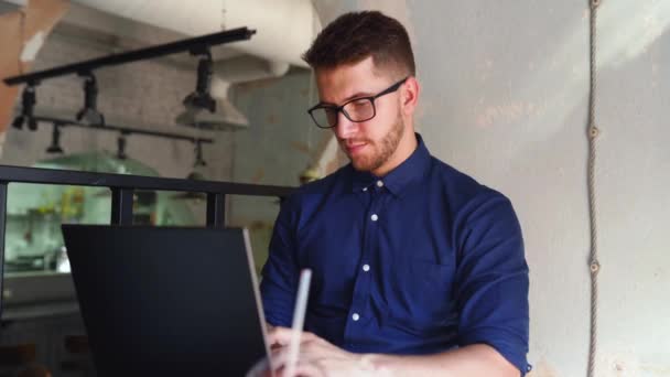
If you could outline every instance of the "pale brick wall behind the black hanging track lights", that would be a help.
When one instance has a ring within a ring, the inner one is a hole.
[[[44,69],[114,52],[118,51],[111,44],[91,42],[85,36],[58,32],[56,28],[40,51],[33,69]],[[215,180],[230,179],[231,133],[198,133],[191,128],[174,125],[174,117],[182,110],[182,99],[195,87],[193,69],[165,60],[152,60],[100,68],[96,72],[96,78],[99,88],[98,109],[105,114],[108,122],[213,137],[216,142],[204,148],[204,157],[208,162],[207,175]],[[82,79],[75,75],[45,80],[37,88],[36,111],[65,111],[74,119],[84,103],[82,84]],[[45,149],[51,142],[51,132],[52,127],[48,123],[41,123],[36,132],[8,129],[0,163],[32,165],[50,158]],[[111,132],[66,128],[63,130],[62,146],[66,153],[91,150],[115,152],[117,136]],[[158,170],[161,175],[174,177],[184,177],[192,170],[194,161],[193,144],[190,142],[141,136],[128,138],[127,154]]]

